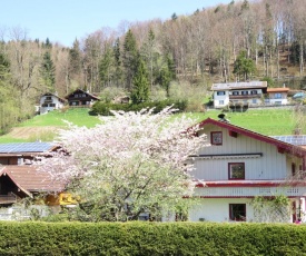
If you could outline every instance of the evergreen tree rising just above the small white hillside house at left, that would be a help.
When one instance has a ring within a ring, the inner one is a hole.
[[[45,52],[39,71],[41,85],[46,87],[45,90],[53,91],[56,85],[56,67],[49,51]]]

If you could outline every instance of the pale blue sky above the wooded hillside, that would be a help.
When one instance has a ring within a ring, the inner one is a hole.
[[[197,9],[229,3],[230,0],[4,0],[0,7],[0,37],[9,39],[12,29],[27,31],[28,39],[59,42],[71,47],[95,31],[117,29],[125,21],[136,22],[174,13],[191,14]],[[1,39],[1,38],[0,38]]]

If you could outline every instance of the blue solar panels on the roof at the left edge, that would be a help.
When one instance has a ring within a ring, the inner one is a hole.
[[[6,152],[45,152],[53,147],[51,142],[13,142],[0,144],[0,154]]]

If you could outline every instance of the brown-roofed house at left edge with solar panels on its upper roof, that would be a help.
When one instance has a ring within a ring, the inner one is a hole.
[[[73,205],[67,201],[71,195],[65,193],[65,184],[55,181],[49,174],[39,171],[33,159],[49,157],[59,147],[50,142],[0,144],[0,219],[12,219],[16,213],[27,218],[29,213],[20,211],[14,204],[24,198],[42,198],[36,208],[41,215],[48,208],[57,209],[61,205]],[[57,195],[53,191],[58,191]]]

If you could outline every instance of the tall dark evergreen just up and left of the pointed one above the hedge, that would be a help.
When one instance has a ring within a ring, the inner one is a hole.
[[[127,88],[131,88],[132,78],[136,73],[139,62],[139,52],[137,50],[136,39],[131,30],[126,33],[124,42],[122,63],[126,72]]]

